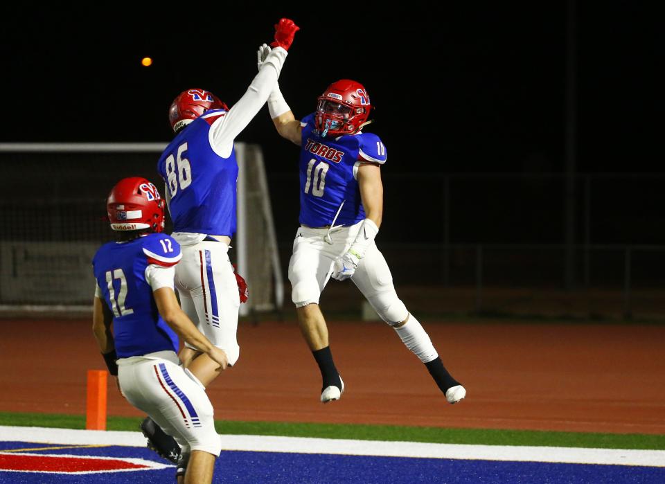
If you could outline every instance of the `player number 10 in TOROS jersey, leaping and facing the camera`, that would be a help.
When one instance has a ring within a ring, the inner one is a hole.
[[[259,48],[258,64],[269,55]],[[374,239],[383,215],[381,139],[362,132],[371,102],[362,84],[333,82],[318,98],[317,111],[296,120],[276,87],[268,98],[278,133],[301,146],[300,228],[289,263],[292,301],[301,331],[321,370],[321,402],[341,397],[344,382],[330,352],[319,296],[329,278],[351,278],[379,316],[425,364],[452,404],[466,395],[443,366],[427,332],[398,298],[390,269]]]

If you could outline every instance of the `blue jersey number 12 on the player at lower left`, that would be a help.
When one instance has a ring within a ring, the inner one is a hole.
[[[93,271],[114,315],[118,357],[178,351],[178,337],[157,311],[145,268],[151,264],[170,267],[181,256],[179,244],[163,233],[150,233],[129,242],[109,242],[95,254]]]

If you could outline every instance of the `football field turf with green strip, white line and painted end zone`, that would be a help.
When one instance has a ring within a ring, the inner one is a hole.
[[[145,448],[139,422],[112,417],[114,430],[85,431],[77,416],[0,413],[0,482],[170,481],[175,468]],[[665,481],[665,436],[276,422],[217,427],[219,483]]]

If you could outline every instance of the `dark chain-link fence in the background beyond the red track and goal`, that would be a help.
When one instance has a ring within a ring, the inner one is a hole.
[[[298,225],[294,163],[266,160],[283,269]],[[24,270],[37,281],[39,267],[67,274],[62,264],[87,250],[77,246],[109,239],[104,203],[117,179],[157,180],[154,152],[140,150],[0,150],[0,165],[5,279]],[[277,166],[293,170],[275,172]],[[665,174],[580,174],[571,195],[566,180],[562,174],[403,174],[386,166],[378,245],[400,296],[428,312],[665,319]],[[566,215],[569,201],[574,210]],[[573,243],[566,243],[568,230]],[[29,280],[21,291],[0,287],[0,305],[20,301]],[[33,286],[38,300],[46,285]],[[328,293],[337,308],[359,307],[351,285],[331,283]],[[88,292],[80,299],[88,301]]]

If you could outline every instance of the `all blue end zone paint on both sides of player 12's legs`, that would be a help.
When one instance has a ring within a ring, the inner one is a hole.
[[[0,442],[0,449],[57,447],[30,442]],[[69,447],[69,446],[62,446]],[[40,454],[137,457],[159,459],[139,447],[87,447],[33,451]],[[0,472],[0,483],[168,483],[175,467],[140,472],[114,472],[76,476]],[[665,483],[665,468],[620,465],[586,465],[287,454],[222,451],[215,464],[215,483]]]

